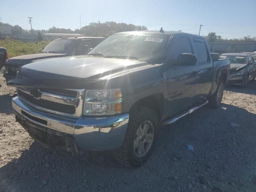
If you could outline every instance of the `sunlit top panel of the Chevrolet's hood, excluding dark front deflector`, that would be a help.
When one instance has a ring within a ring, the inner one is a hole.
[[[26,78],[106,79],[138,68],[152,66],[138,60],[103,58],[98,56],[54,58],[22,66],[18,75]]]

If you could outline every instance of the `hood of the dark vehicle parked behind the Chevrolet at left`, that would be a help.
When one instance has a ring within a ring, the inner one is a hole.
[[[56,53],[37,53],[37,54],[29,54],[29,55],[21,55],[10,58],[6,65],[10,67],[19,67],[26,65],[28,63],[33,62],[34,60],[46,59],[46,58],[56,58],[63,57],[66,54],[56,54]]]

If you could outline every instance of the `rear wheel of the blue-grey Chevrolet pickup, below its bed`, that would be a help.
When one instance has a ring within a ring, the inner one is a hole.
[[[222,97],[223,97],[223,92],[224,92],[224,84],[223,84],[223,81],[220,79],[216,92],[208,98],[209,106],[211,108],[218,108],[220,106]]]

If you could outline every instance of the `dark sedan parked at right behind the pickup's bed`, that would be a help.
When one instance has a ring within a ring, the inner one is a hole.
[[[247,83],[256,77],[256,62],[249,54],[225,53],[220,58],[230,60],[229,84],[247,86]]]

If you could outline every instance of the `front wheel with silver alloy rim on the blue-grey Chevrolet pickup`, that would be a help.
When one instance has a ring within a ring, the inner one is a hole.
[[[123,145],[113,152],[116,160],[130,167],[148,161],[156,143],[158,127],[158,116],[153,110],[145,107],[131,110]]]

